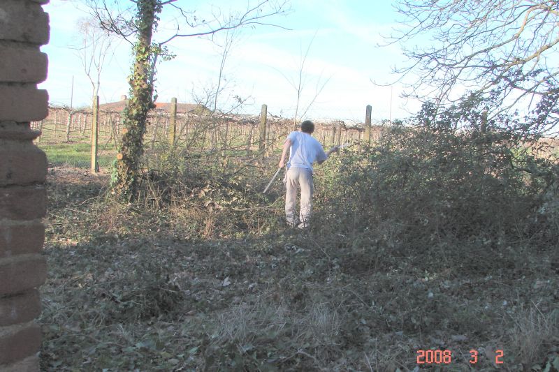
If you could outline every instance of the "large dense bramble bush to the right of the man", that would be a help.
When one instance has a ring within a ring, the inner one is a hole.
[[[432,253],[423,265],[466,271],[518,268],[518,249],[556,245],[558,166],[532,151],[539,137],[529,125],[488,120],[490,103],[470,97],[438,111],[427,103],[410,125],[386,127],[374,146],[331,159],[317,225],[349,237],[340,244],[361,262],[367,246],[393,257]],[[381,259],[375,267],[394,264]]]

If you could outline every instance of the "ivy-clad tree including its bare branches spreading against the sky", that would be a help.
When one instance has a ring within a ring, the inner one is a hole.
[[[124,135],[117,154],[117,177],[114,191],[121,199],[136,197],[140,179],[140,157],[143,154],[143,135],[147,112],[154,103],[154,76],[157,57],[172,57],[166,45],[175,38],[208,36],[245,26],[269,24],[273,15],[286,13],[284,0],[249,1],[247,8],[231,14],[223,14],[214,8],[208,19],[199,17],[177,5],[177,0],[130,0],[126,8],[122,2],[88,0],[92,15],[99,20],[103,29],[122,36],[133,45],[134,64],[130,79],[129,103],[124,110]],[[175,20],[174,31],[157,37],[157,25],[161,13],[166,10]],[[157,40],[156,40],[157,39]]]

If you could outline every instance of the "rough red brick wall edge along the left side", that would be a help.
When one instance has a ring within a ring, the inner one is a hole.
[[[0,371],[38,371],[41,312],[38,286],[47,268],[47,160],[34,146],[30,121],[47,113],[48,0],[0,1]]]

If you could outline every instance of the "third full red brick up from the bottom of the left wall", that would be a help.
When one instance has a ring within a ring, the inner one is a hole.
[[[41,255],[17,255],[0,260],[0,296],[15,295],[45,283],[47,262]]]

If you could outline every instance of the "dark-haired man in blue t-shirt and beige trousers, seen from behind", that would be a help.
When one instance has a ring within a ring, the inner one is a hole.
[[[312,212],[312,163],[324,163],[328,156],[338,150],[333,147],[324,152],[322,145],[314,137],[314,124],[305,120],[300,125],[300,132],[291,132],[284,142],[282,158],[279,160],[279,168],[285,166],[285,156],[289,150],[289,162],[285,173],[284,183],[287,188],[285,195],[285,216],[287,223],[300,229],[309,226]],[[297,191],[301,189],[300,213],[296,219]]]

